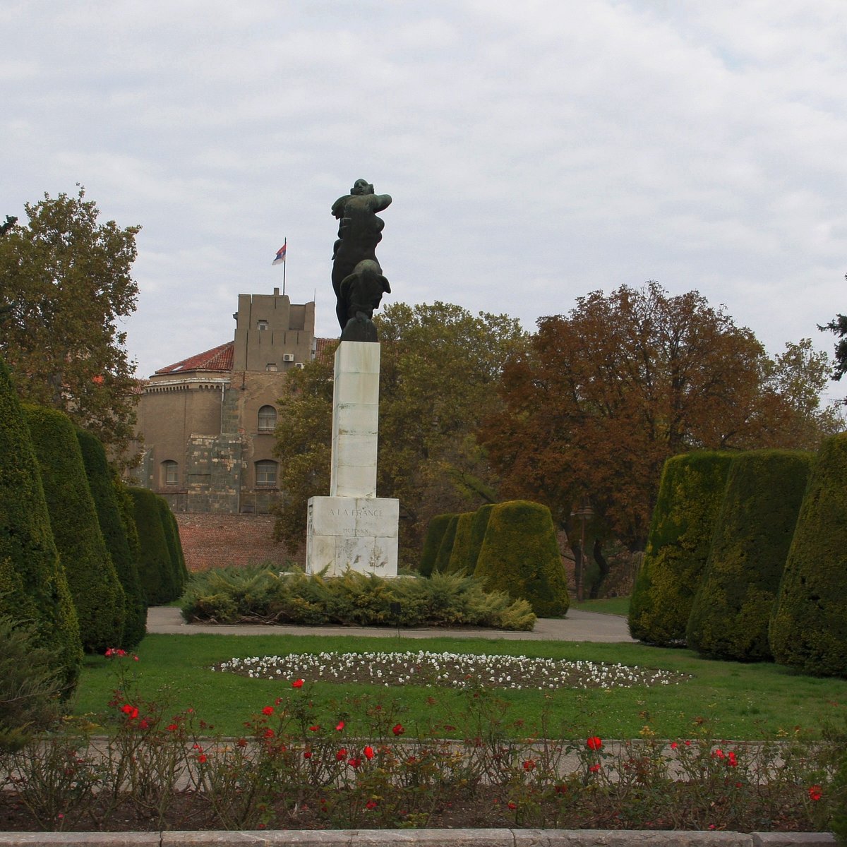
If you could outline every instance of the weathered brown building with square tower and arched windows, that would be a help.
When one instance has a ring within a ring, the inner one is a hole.
[[[267,514],[279,495],[274,457],[285,374],[323,345],[314,302],[241,294],[235,338],[159,369],[141,386],[136,482],[174,512]]]

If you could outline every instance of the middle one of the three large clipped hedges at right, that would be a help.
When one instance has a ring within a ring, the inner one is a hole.
[[[691,606],[689,647],[738,662],[772,658],[767,626],[811,459],[811,453],[786,450],[750,451],[733,459]]]

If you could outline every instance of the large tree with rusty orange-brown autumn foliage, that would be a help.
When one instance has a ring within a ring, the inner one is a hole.
[[[572,543],[571,512],[590,504],[586,546],[613,535],[642,549],[668,457],[794,446],[795,410],[769,377],[750,329],[697,291],[594,291],[539,319],[530,350],[504,368],[504,407],[481,441],[501,495],[545,503]]]

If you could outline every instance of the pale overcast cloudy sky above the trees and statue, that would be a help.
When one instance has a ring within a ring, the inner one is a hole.
[[[7,0],[0,32],[0,213],[81,183],[142,225],[141,376],[230,340],[286,237],[337,335],[359,177],[390,299],[533,329],[659,280],[772,353],[847,310],[844,0]]]

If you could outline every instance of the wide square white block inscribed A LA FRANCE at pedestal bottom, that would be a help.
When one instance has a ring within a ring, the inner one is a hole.
[[[397,575],[400,501],[387,497],[311,497],[306,573],[340,576],[347,569]]]

